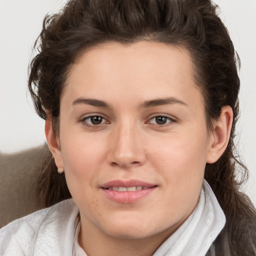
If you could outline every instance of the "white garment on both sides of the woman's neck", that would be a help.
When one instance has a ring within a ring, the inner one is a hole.
[[[204,180],[198,203],[153,256],[204,256],[225,224],[225,216]],[[0,229],[0,255],[87,256],[78,244],[79,210],[72,199],[17,219]]]

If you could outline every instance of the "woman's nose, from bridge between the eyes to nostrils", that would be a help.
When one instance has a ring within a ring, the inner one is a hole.
[[[112,130],[108,162],[122,168],[141,165],[146,154],[138,127],[131,124],[120,124]]]

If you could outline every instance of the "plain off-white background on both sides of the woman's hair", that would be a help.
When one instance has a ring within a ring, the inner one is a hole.
[[[0,0],[0,151],[41,144],[44,122],[26,96],[27,65],[47,12],[66,0]],[[238,152],[250,171],[244,189],[256,205],[256,0],[214,0],[241,59]]]

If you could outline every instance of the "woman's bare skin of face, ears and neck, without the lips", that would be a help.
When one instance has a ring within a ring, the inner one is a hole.
[[[227,145],[232,110],[224,106],[208,132],[193,73],[187,50],[146,41],[100,44],[72,65],[59,136],[50,115],[45,133],[79,208],[79,243],[88,255],[151,255],[195,208],[206,162]],[[92,124],[91,116],[102,119]],[[102,191],[114,179],[155,188],[120,203]]]

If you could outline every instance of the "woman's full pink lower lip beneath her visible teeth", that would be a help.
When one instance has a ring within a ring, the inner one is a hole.
[[[148,188],[136,190],[136,191],[116,191],[116,190],[110,190],[105,188],[102,188],[102,190],[106,195],[106,197],[108,197],[109,199],[115,202],[132,203],[149,195],[155,188],[156,186],[153,186],[153,187],[148,187]]]

